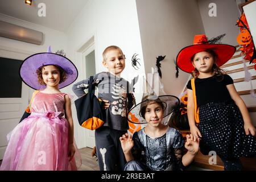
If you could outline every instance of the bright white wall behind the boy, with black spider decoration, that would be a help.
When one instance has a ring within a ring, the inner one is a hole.
[[[84,79],[81,75],[81,54],[78,52],[92,36],[94,36],[95,43],[97,73],[107,71],[102,66],[102,52],[104,49],[108,46],[116,45],[126,55],[126,68],[121,76],[131,81],[133,77],[144,74],[135,0],[90,0],[71,24],[67,31],[68,55],[79,69],[80,75],[77,81]],[[139,71],[135,71],[131,67],[131,57],[134,53],[138,53],[138,57],[141,59],[141,69]],[[138,88],[139,84],[137,83],[135,90],[138,91]],[[138,92],[135,94],[135,97],[138,101],[141,100]],[[75,110],[75,107],[72,107],[72,110]],[[76,113],[73,113],[73,118],[75,118],[75,128],[78,131],[77,145],[79,148],[84,147],[85,139],[82,134],[84,129],[77,125]]]

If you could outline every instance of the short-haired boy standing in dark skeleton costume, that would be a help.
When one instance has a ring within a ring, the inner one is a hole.
[[[119,137],[129,129],[126,114],[135,104],[135,98],[129,82],[120,77],[125,68],[122,50],[117,46],[109,46],[102,56],[102,64],[109,72],[93,76],[104,115],[104,125],[95,130],[98,164],[101,171],[123,170],[126,160]],[[77,97],[85,94],[84,89],[88,88],[88,84],[89,78],[73,85]]]

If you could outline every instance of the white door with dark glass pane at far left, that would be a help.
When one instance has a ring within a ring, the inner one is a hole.
[[[6,135],[18,125],[32,92],[32,89],[21,80],[17,81],[19,65],[31,54],[23,50],[0,47],[0,57],[2,57],[0,67],[5,67],[4,73],[0,74],[2,74],[1,79],[6,81],[1,85],[1,89],[5,88],[5,91],[0,92],[0,160],[3,159],[8,143]]]

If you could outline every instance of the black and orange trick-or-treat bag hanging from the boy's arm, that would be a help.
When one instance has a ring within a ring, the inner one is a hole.
[[[104,124],[101,103],[94,95],[93,76],[90,76],[88,93],[75,101],[77,119],[82,127],[96,130]]]

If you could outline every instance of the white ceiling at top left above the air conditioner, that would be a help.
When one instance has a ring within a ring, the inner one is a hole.
[[[33,0],[32,6],[24,2],[25,0],[0,0],[0,13],[64,32],[88,0]],[[38,16],[39,3],[45,3],[46,17]]]

